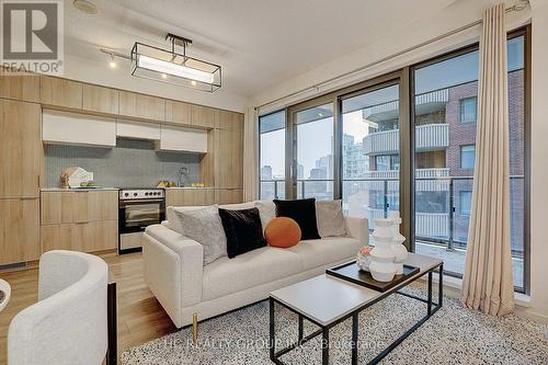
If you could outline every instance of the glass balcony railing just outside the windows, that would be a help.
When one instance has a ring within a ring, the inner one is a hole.
[[[431,198],[415,195],[414,236],[422,242],[442,244],[449,250],[465,248],[468,233],[469,214],[461,206],[460,192],[472,190],[471,176],[448,176],[448,169],[419,169],[415,171],[415,192],[439,192]],[[373,220],[386,218],[391,209],[399,209],[399,171],[370,171],[369,178],[343,179],[343,209],[347,215],[364,216]],[[523,175],[512,175],[511,192],[523,192]],[[426,195],[427,196],[427,195]],[[261,198],[285,198],[285,181],[261,181]],[[333,198],[333,180],[298,180],[297,197]],[[422,198],[422,201],[420,201]],[[517,204],[512,208],[520,220]],[[513,216],[514,217],[514,216]],[[523,256],[523,243],[512,238],[514,256]]]

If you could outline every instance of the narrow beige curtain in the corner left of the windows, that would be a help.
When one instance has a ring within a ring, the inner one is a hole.
[[[246,111],[243,125],[243,201],[251,202],[259,194],[259,119],[254,107]]]

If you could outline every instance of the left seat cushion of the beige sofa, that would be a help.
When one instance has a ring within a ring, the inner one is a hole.
[[[264,247],[204,267],[203,299],[210,300],[302,272],[298,254]]]

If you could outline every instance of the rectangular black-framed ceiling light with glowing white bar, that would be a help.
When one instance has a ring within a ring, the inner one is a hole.
[[[220,66],[186,56],[191,39],[168,33],[171,50],[136,42],[132,49],[132,75],[213,92],[221,87]],[[182,53],[176,47],[182,47]]]

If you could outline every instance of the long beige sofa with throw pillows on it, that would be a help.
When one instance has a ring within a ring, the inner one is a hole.
[[[240,308],[346,262],[367,244],[369,236],[366,218],[346,217],[347,237],[306,240],[289,249],[265,247],[204,266],[202,244],[170,228],[174,209],[168,207],[168,220],[146,229],[142,259],[147,285],[178,328],[192,323],[194,313],[203,320]]]

